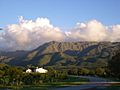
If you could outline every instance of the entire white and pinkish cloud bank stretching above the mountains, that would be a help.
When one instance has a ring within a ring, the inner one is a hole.
[[[4,27],[0,32],[0,50],[32,50],[50,41],[120,42],[120,25],[105,26],[97,20],[77,23],[69,31],[53,26],[47,18],[25,20]]]

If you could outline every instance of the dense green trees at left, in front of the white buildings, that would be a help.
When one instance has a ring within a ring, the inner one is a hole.
[[[40,85],[58,82],[67,78],[67,73],[48,68],[48,73],[26,73],[23,68],[0,65],[0,84],[4,86]]]

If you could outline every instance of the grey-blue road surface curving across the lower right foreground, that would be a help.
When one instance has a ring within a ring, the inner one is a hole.
[[[108,79],[91,76],[75,76],[89,79],[90,82],[82,85],[74,85],[69,87],[56,88],[53,90],[120,90],[120,82],[112,82]]]

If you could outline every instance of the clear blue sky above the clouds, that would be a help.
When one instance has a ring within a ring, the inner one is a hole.
[[[105,25],[120,23],[120,0],[0,0],[0,11],[0,27],[17,23],[18,16],[47,17],[61,28],[93,19]]]

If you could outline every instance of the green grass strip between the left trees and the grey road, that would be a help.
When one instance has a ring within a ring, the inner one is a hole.
[[[13,90],[48,90],[51,88],[66,87],[72,85],[81,85],[89,82],[88,79],[69,76],[65,80],[59,82],[43,83],[41,85],[21,85],[21,86],[0,86],[0,89],[13,89]]]

